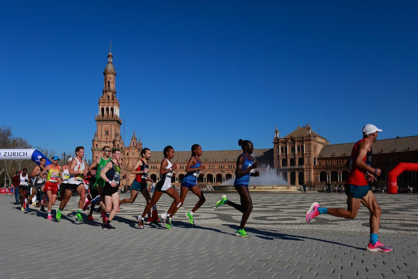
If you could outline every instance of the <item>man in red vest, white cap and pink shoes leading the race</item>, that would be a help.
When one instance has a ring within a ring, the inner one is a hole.
[[[363,138],[354,144],[349,160],[350,173],[344,187],[347,195],[347,210],[320,207],[317,202],[313,202],[311,208],[306,212],[306,222],[309,223],[319,214],[354,219],[362,203],[370,211],[370,242],[367,244],[366,250],[390,252],[393,248],[383,245],[377,238],[382,210],[377,204],[371,187],[367,184],[367,182],[376,181],[376,177],[381,173],[380,169],[372,168],[370,162],[373,155],[372,143],[376,141],[382,130],[375,125],[367,124],[363,127],[362,132]]]

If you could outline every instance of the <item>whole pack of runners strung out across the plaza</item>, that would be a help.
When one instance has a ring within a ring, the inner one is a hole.
[[[377,231],[380,225],[381,209],[377,204],[376,198],[371,191],[371,187],[368,182],[373,182],[378,176],[380,176],[381,170],[375,169],[370,166],[372,159],[372,143],[377,139],[378,132],[382,130],[378,129],[375,125],[367,124],[363,127],[363,138],[358,141],[353,149],[351,157],[348,161],[350,174],[346,182],[345,190],[347,194],[347,207],[342,208],[326,208],[321,207],[317,202],[313,202],[308,212],[306,213],[306,222],[309,223],[312,219],[320,214],[330,214],[342,218],[355,218],[359,206],[362,203],[367,209],[370,210],[370,243],[367,245],[367,251],[382,251],[389,252],[393,248],[385,246],[377,238]],[[242,154],[237,158],[234,187],[240,195],[240,204],[232,202],[227,199],[226,195],[222,195],[221,199],[216,202],[216,207],[221,205],[229,205],[234,207],[238,211],[242,212],[241,223],[235,235],[241,237],[248,237],[245,232],[245,224],[252,211],[252,200],[248,189],[250,177],[258,177],[259,171],[255,171],[258,167],[257,162],[254,161],[252,153],[254,152],[254,146],[251,141],[240,139],[238,145],[242,148]],[[67,202],[71,198],[73,192],[77,192],[79,200],[79,208],[76,212],[76,218],[79,221],[83,220],[81,212],[90,206],[90,212],[87,217],[88,220],[94,220],[92,213],[94,207],[99,205],[102,214],[102,220],[104,228],[115,229],[111,225],[111,221],[115,217],[119,210],[119,205],[125,203],[133,203],[141,192],[146,201],[145,209],[142,215],[138,216],[138,227],[144,228],[145,216],[148,215],[148,224],[157,222],[157,218],[152,219],[150,215],[151,208],[155,208],[156,203],[160,199],[163,193],[166,193],[173,199],[170,208],[167,212],[161,214],[161,218],[164,220],[166,228],[172,229],[173,224],[171,219],[176,214],[178,209],[184,204],[184,200],[189,191],[194,193],[199,201],[189,212],[186,212],[186,217],[189,219],[189,223],[194,224],[193,215],[196,210],[201,207],[206,201],[200,187],[197,186],[197,179],[200,175],[203,175],[200,171],[205,169],[205,166],[201,164],[200,156],[203,151],[199,144],[191,146],[191,157],[186,166],[186,174],[181,183],[180,195],[176,189],[171,186],[171,178],[173,172],[177,169],[176,164],[173,164],[171,160],[174,158],[175,151],[172,146],[166,146],[163,150],[164,159],[161,161],[160,166],[160,180],[155,186],[155,192],[153,196],[150,196],[147,187],[148,173],[149,173],[149,160],[151,158],[151,151],[149,148],[143,148],[141,150],[141,159],[136,162],[131,174],[135,174],[135,179],[132,183],[132,191],[130,198],[120,200],[118,188],[121,179],[126,179],[128,174],[122,175],[122,168],[120,166],[120,159],[122,153],[119,149],[114,148],[111,150],[109,146],[104,146],[102,149],[103,156],[93,161],[88,169],[85,168],[83,161],[84,147],[78,146],[75,149],[76,157],[69,158],[67,164],[60,167],[58,165],[59,158],[57,156],[52,157],[52,164],[45,166],[45,159],[41,159],[40,165],[36,166],[31,176],[34,177],[33,187],[37,187],[46,193],[48,197],[48,215],[47,219],[52,220],[51,208],[55,204],[57,199],[58,187],[60,192],[60,205],[56,210],[56,220],[60,221],[62,212]],[[112,156],[110,155],[112,153]],[[86,201],[86,191],[84,189],[85,175],[89,172],[91,175],[90,182],[90,197]],[[23,169],[20,174],[20,195],[21,197],[27,196],[27,187],[31,183],[26,174],[26,169]],[[36,188],[35,188],[36,189]],[[33,191],[29,199],[33,197]],[[20,201],[22,211],[28,209],[29,204],[26,199]]]

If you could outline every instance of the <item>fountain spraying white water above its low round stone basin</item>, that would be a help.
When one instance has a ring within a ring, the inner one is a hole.
[[[290,185],[287,181],[277,174],[277,170],[269,165],[261,165],[256,171],[260,171],[259,177],[250,177],[250,192],[298,192],[299,186]],[[255,189],[254,189],[255,186]],[[214,186],[216,191],[236,191],[234,188],[234,178],[228,179],[220,185]]]

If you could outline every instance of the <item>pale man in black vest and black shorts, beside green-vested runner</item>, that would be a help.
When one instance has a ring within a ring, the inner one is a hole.
[[[106,204],[106,212],[110,212],[109,217],[106,220],[106,223],[104,223],[104,228],[107,229],[115,229],[115,227],[110,225],[110,222],[115,217],[117,209],[119,207],[119,193],[117,192],[117,189],[119,188],[120,184],[121,169],[119,160],[121,156],[122,152],[119,149],[113,149],[112,161],[108,162],[106,166],[104,166],[104,169],[100,171],[100,177],[105,181],[103,187],[103,195]],[[123,176],[123,178],[125,179],[127,177],[128,174],[125,174]]]

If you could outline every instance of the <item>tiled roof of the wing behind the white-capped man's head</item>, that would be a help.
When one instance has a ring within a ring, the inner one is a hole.
[[[354,146],[352,143],[340,143],[340,144],[330,144],[324,146],[321,150],[321,154],[324,157],[328,156],[343,156],[344,154],[350,155]],[[403,138],[389,138],[385,140],[377,140],[372,145],[373,153],[383,152],[395,152],[395,151],[405,151],[408,150],[418,150],[418,136],[409,136]]]

